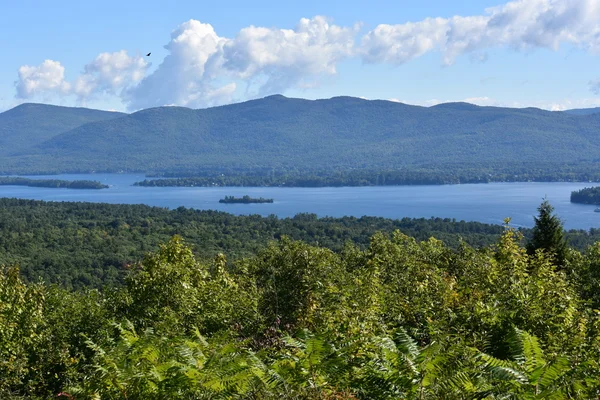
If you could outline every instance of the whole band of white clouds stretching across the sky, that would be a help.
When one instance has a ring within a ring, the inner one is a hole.
[[[462,55],[486,62],[495,47],[556,50],[563,44],[600,54],[600,1],[514,0],[481,15],[381,24],[361,37],[358,32],[358,25],[342,27],[316,16],[293,29],[249,26],[223,37],[192,19],[171,32],[168,54],[152,73],[144,57],[124,50],[98,55],[72,81],[65,80],[60,62],[46,60],[19,69],[17,97],[71,95],[83,102],[110,94],[130,110],[206,107],[316,87],[352,57],[400,65],[438,52],[450,65]],[[600,81],[590,87],[600,93]]]

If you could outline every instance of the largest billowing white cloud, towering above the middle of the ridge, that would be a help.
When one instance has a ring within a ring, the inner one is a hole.
[[[354,28],[324,17],[301,19],[295,29],[250,26],[236,37],[220,37],[210,24],[190,20],[171,33],[169,55],[132,90],[132,109],[179,104],[202,107],[229,102],[245,83],[244,97],[311,86],[352,53]]]

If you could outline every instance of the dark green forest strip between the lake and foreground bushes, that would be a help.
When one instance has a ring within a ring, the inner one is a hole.
[[[19,264],[30,282],[41,277],[66,288],[102,288],[121,284],[127,265],[173,235],[185,237],[202,261],[220,252],[233,261],[256,254],[282,236],[341,252],[346,242],[364,249],[376,232],[397,229],[418,240],[436,237],[455,249],[461,242],[489,246],[503,231],[500,225],[442,218],[265,218],[184,207],[0,199],[0,264]],[[531,230],[522,232],[531,237]],[[600,229],[573,230],[567,239],[570,246],[584,250],[600,241]]]

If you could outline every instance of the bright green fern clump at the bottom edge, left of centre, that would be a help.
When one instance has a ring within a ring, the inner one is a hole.
[[[235,343],[191,337],[166,338],[151,328],[141,335],[132,324],[116,325],[119,336],[95,353],[83,382],[70,388],[76,398],[230,399],[251,394],[268,381],[264,364]],[[71,394],[72,393],[72,394]]]

